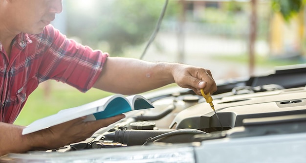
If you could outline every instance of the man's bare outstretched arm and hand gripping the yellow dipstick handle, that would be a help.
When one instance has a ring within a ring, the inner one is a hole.
[[[171,83],[190,88],[198,95],[217,91],[210,70],[178,63],[146,62],[131,58],[109,57],[93,87],[122,94],[150,91]]]

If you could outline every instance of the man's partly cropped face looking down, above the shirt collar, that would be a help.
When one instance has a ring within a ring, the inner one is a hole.
[[[37,34],[63,10],[62,0],[7,0],[8,24],[16,32]]]

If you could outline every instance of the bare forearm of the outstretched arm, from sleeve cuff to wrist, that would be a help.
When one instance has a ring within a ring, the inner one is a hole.
[[[135,94],[174,83],[175,64],[109,57],[95,88],[112,93]]]

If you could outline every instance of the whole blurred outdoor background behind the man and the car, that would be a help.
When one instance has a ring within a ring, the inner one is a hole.
[[[52,24],[68,38],[139,58],[165,0],[63,0]],[[305,63],[305,0],[169,0],[146,61],[179,62],[210,69],[215,80],[266,73]],[[255,20],[255,21],[254,21]],[[42,83],[15,121],[28,125],[59,110],[110,95],[80,93],[55,81]]]

